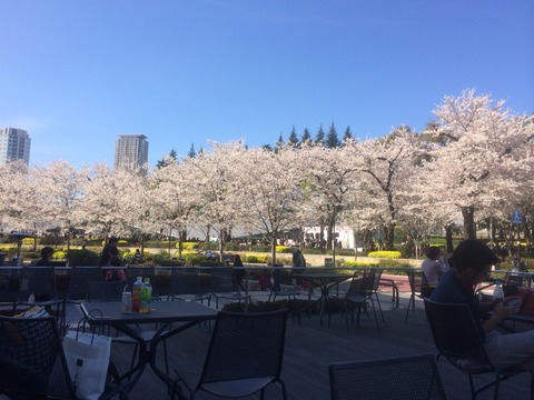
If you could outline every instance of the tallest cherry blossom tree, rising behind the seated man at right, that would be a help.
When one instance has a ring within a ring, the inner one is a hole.
[[[526,117],[512,116],[504,101],[475,96],[466,90],[457,98],[445,97],[434,111],[438,128],[431,131],[443,146],[436,148],[426,168],[435,181],[433,190],[447,193],[447,202],[462,211],[465,238],[475,238],[475,213],[503,208],[502,200],[516,202],[516,177],[532,171],[524,162],[532,124]],[[504,207],[511,212],[512,204]]]

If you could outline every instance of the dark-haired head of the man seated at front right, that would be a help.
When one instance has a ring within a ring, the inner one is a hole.
[[[500,259],[492,249],[478,240],[467,239],[453,251],[454,268],[472,277],[473,283],[481,282]]]

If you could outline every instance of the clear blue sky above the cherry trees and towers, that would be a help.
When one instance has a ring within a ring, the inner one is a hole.
[[[121,133],[155,164],[293,126],[421,130],[468,88],[534,111],[532,0],[3,0],[0,27],[0,127],[30,164],[112,164]]]

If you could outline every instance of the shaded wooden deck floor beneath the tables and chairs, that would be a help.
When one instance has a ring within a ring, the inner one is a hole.
[[[265,296],[264,293],[257,293]],[[363,316],[360,327],[352,326],[350,334],[346,331],[345,320],[334,314],[332,326],[320,327],[317,316],[303,317],[301,324],[288,320],[286,349],[283,368],[283,380],[286,383],[289,399],[326,400],[329,399],[328,364],[334,361],[366,360],[386,357],[399,357],[418,353],[435,353],[429,328],[424,317],[423,303],[417,302],[415,312],[409,312],[408,322],[404,323],[407,306],[407,293],[402,293],[400,308],[392,310],[388,292],[380,296],[385,324],[377,332],[373,318]],[[264,299],[265,300],[265,299]],[[187,381],[195,384],[200,372],[209,342],[208,327],[195,327],[168,341],[168,353],[171,370],[178,370]],[[265,343],[269,346],[269,343]],[[130,348],[122,344],[113,348],[113,359],[128,366]],[[467,376],[455,370],[446,360],[441,360],[439,371],[448,399],[468,399]],[[380,384],[379,382],[376,382]],[[166,399],[168,393],[150,368],[130,393],[134,400]],[[478,397],[481,400],[492,399],[492,391]],[[504,382],[500,399],[527,399],[530,397],[530,376],[522,374]],[[211,399],[205,394],[199,399]],[[279,388],[273,386],[267,391],[267,399],[280,399]],[[248,399],[248,398],[247,398]],[[259,394],[250,397],[259,399]]]

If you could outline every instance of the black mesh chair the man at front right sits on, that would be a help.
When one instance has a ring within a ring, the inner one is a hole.
[[[428,299],[424,301],[426,317],[438,351],[437,358],[445,357],[454,367],[467,373],[472,399],[476,399],[479,392],[491,387],[495,388],[494,398],[497,399],[502,381],[526,372],[513,368],[496,369],[492,364],[467,304],[441,303]],[[485,373],[492,373],[494,378],[475,388],[473,377]],[[531,396],[534,394],[533,388],[534,379],[531,381]]]

